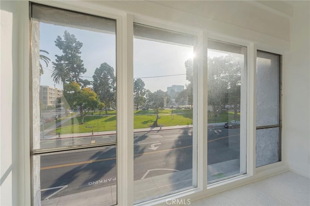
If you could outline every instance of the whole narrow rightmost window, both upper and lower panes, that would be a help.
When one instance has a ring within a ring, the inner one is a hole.
[[[256,166],[280,161],[280,55],[257,51]]]

